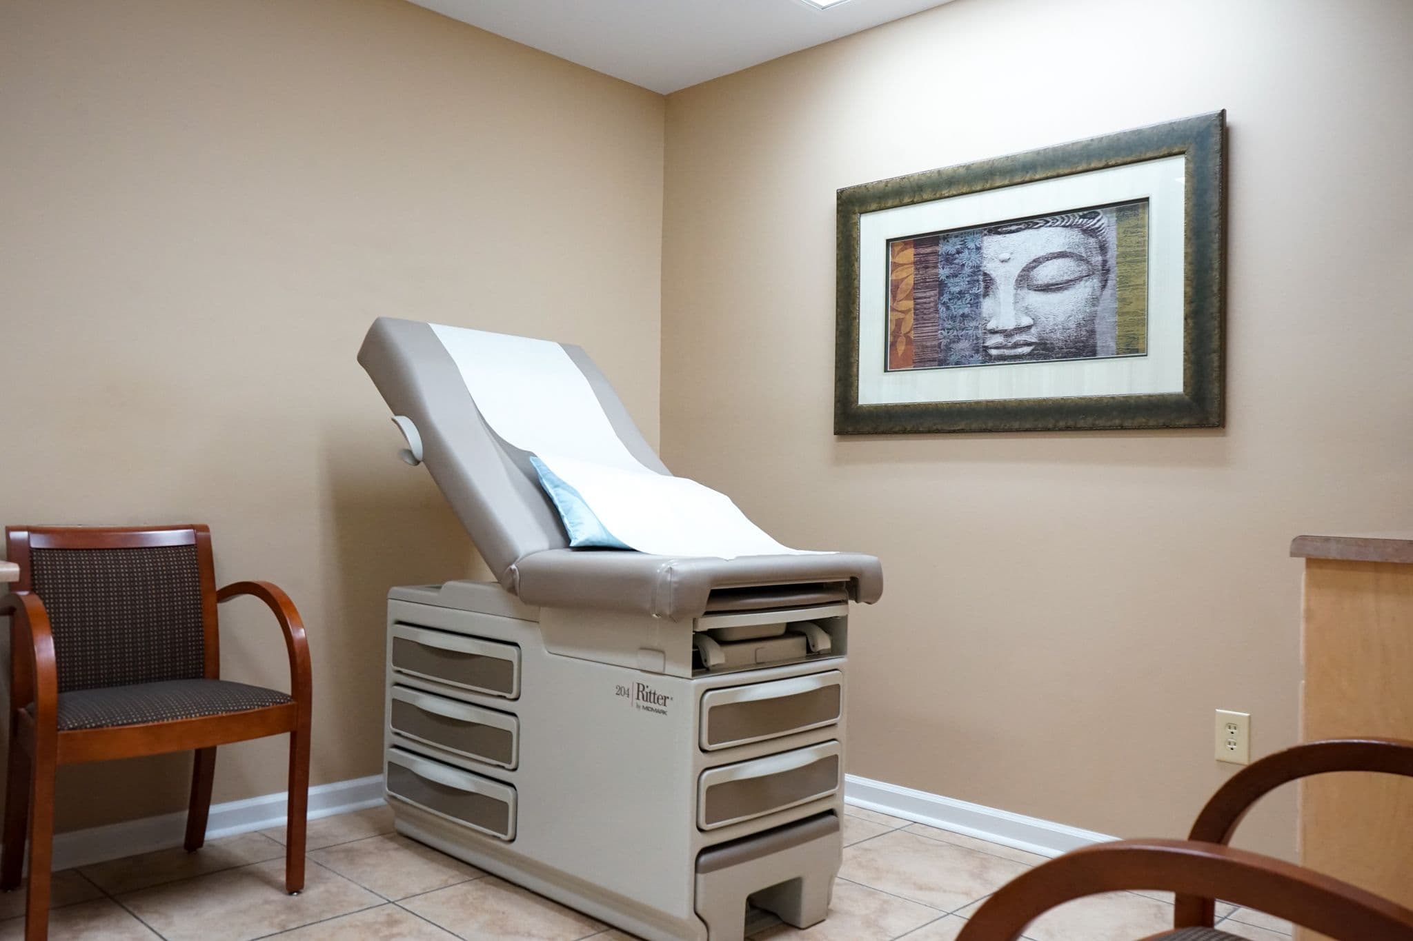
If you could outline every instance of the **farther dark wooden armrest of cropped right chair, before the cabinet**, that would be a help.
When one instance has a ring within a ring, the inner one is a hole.
[[[1307,742],[1248,765],[1217,789],[1188,839],[1225,844],[1258,800],[1282,784],[1331,772],[1383,772],[1413,777],[1413,742],[1396,738],[1335,738]],[[1413,838],[1413,834],[1409,834]],[[1211,927],[1214,899],[1178,894],[1177,927]]]

